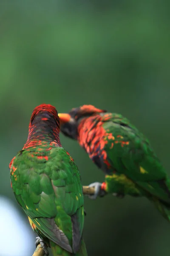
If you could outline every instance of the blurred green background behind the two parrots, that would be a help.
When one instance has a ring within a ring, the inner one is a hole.
[[[0,195],[27,225],[8,163],[26,142],[31,113],[41,103],[59,112],[92,104],[122,113],[149,138],[170,175],[169,9],[168,0],[0,1]],[[102,182],[85,151],[60,138],[83,184]],[[170,255],[170,224],[147,199],[85,198],[85,209],[89,256]],[[31,244],[28,255],[33,251]]]

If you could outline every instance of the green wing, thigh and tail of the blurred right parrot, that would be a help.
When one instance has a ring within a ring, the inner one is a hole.
[[[149,141],[123,116],[114,113],[106,116],[103,116],[105,151],[113,171],[105,178],[108,191],[115,192],[112,189],[116,187],[119,192],[124,189],[130,195],[144,195],[169,219],[170,182]]]

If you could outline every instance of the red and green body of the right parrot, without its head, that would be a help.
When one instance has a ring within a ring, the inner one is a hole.
[[[89,157],[111,180],[124,183],[134,195],[144,195],[170,221],[170,181],[147,138],[128,119],[116,113],[84,118],[78,126],[78,141]],[[109,187],[110,186],[110,187]]]

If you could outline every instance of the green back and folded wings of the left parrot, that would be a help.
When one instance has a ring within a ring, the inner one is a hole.
[[[31,154],[23,151],[13,161],[14,195],[39,236],[49,239],[52,248],[57,248],[54,250],[63,251],[54,255],[77,253],[82,246],[84,225],[82,183],[77,166],[63,148],[52,148],[47,161],[37,161],[32,150]]]

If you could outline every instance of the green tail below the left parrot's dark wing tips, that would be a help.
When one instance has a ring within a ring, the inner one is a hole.
[[[52,241],[50,241],[50,246],[51,246],[51,251],[53,256],[88,256],[86,247],[85,247],[85,242],[83,239],[82,239],[81,247],[76,254],[69,253],[68,251],[64,250],[62,247],[60,247],[59,245],[55,244]]]

